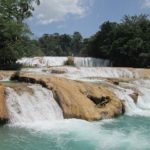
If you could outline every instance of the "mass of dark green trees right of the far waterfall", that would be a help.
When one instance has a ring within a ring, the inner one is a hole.
[[[108,58],[113,66],[149,67],[148,16],[124,16],[121,23],[103,23],[91,38],[88,54]]]

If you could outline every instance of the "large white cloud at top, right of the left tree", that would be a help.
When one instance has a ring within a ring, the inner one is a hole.
[[[41,0],[35,7],[34,19],[41,24],[63,21],[69,15],[83,17],[93,0]]]

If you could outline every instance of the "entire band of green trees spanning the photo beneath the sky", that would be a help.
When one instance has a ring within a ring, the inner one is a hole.
[[[98,32],[83,38],[79,32],[44,34],[33,39],[24,20],[32,16],[33,2],[0,1],[0,69],[18,58],[33,56],[90,56],[109,59],[113,66],[150,67],[150,19],[124,16],[120,23],[104,22]]]

